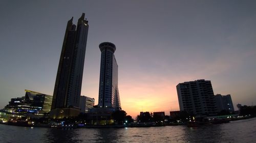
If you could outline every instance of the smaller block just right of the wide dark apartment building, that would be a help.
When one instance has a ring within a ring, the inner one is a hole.
[[[215,95],[216,105],[217,105],[217,111],[220,112],[222,110],[226,110],[229,112],[234,111],[233,102],[231,99],[231,95],[221,95],[217,94]]]

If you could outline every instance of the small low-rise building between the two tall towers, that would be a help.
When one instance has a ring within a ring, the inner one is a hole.
[[[81,96],[80,97],[80,105],[81,112],[87,113],[90,111],[91,108],[94,106],[94,98],[90,98],[87,96]]]

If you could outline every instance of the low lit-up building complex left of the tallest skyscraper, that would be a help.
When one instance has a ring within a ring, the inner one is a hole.
[[[12,113],[34,113],[44,115],[51,110],[52,96],[25,90],[25,96],[12,98],[5,110]]]

